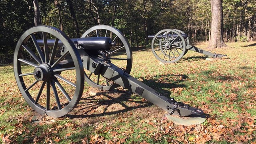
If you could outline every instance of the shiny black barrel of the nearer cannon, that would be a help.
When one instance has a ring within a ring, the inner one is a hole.
[[[88,38],[72,38],[71,39],[75,44],[80,44],[86,50],[110,50],[112,46],[115,45],[112,42],[112,39],[109,37],[88,37]],[[44,46],[44,40],[36,40],[39,46]],[[48,47],[54,46],[55,40],[48,39],[47,44]],[[58,42],[58,46],[62,46],[63,43],[61,41]]]

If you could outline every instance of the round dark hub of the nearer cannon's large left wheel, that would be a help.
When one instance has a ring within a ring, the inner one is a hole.
[[[52,68],[48,64],[40,64],[34,69],[34,77],[36,80],[48,81],[52,75]]]

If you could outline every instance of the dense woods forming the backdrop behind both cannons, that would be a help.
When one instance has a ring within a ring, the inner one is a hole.
[[[256,40],[256,1],[222,0],[222,6],[224,40]],[[131,46],[148,47],[148,35],[164,28],[208,42],[211,18],[210,0],[1,0],[0,63],[10,62],[20,35],[34,25],[55,26],[76,38],[106,24],[124,33]]]

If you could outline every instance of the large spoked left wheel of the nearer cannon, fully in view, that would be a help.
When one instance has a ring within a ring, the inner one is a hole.
[[[38,39],[44,40],[44,46],[39,46]],[[53,48],[47,39],[55,39]],[[58,42],[64,46],[58,47]],[[22,34],[14,52],[14,74],[22,96],[40,114],[64,116],[82,96],[80,55],[73,42],[51,26],[35,26]]]

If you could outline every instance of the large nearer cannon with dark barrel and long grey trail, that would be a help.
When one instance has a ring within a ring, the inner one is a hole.
[[[52,26],[34,26],[22,34],[14,52],[14,75],[26,102],[39,114],[62,117],[78,104],[84,82],[112,90],[122,86],[179,116],[203,115],[167,98],[130,75],[132,52],[124,35],[111,26],[88,29],[70,39]]]

